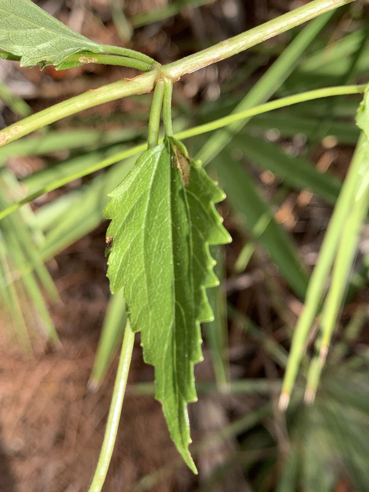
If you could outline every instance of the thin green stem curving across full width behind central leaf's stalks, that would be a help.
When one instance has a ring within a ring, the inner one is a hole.
[[[193,137],[195,135],[200,135],[202,133],[206,133],[216,128],[222,128],[228,124],[234,123],[236,121],[242,120],[244,118],[249,118],[251,116],[259,115],[261,113],[265,113],[267,111],[272,111],[277,108],[282,108],[284,106],[288,106],[291,104],[297,104],[299,102],[305,102],[312,99],[317,99],[319,97],[327,97],[327,96],[335,96],[335,95],[343,95],[343,94],[357,94],[360,92],[364,92],[365,86],[340,86],[340,87],[326,87],[324,89],[316,89],[314,91],[302,92],[300,94],[290,95],[287,97],[281,97],[280,99],[276,99],[275,101],[270,101],[265,104],[260,104],[260,106],[255,106],[254,108],[247,109],[246,111],[242,111],[240,113],[235,113],[229,116],[225,116],[224,118],[219,118],[211,123],[205,123],[199,126],[194,126],[193,128],[188,128],[187,130],[181,131],[179,133],[175,133],[174,136],[178,140],[184,140],[189,137]],[[76,173],[73,173],[69,176],[65,176],[60,180],[57,180],[42,189],[32,193],[27,196],[23,200],[20,200],[17,203],[13,203],[9,207],[0,211],[0,220],[7,215],[11,214],[15,210],[19,209],[22,205],[35,200],[39,196],[53,191],[54,189],[60,188],[64,186],[64,184],[68,184],[71,181],[77,180],[79,178],[83,178],[88,174],[94,173],[95,171],[99,171],[100,169],[104,169],[105,167],[111,166],[120,160],[131,157],[132,155],[136,155],[140,152],[143,152],[146,149],[146,144],[137,145],[128,150],[120,152],[119,154],[112,155],[107,157],[106,159],[93,164],[85,169],[82,169]]]

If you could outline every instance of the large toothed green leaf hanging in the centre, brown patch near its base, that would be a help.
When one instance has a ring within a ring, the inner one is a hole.
[[[218,280],[209,245],[231,241],[214,206],[225,195],[180,142],[166,138],[139,157],[110,196],[104,212],[112,219],[110,288],[115,293],[124,287],[131,327],[141,330],[145,361],[155,366],[155,398],[179,452],[196,472],[188,451],[187,402],[196,400],[199,323],[213,319],[205,287]]]

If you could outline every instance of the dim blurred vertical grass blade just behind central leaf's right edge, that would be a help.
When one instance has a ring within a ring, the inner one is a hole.
[[[224,279],[224,248],[211,246],[210,254],[216,261],[214,273],[220,285],[207,289],[209,304],[214,313],[214,321],[204,324],[206,339],[210,345],[216,386],[220,392],[229,390],[229,358],[227,329],[227,299],[222,284]]]

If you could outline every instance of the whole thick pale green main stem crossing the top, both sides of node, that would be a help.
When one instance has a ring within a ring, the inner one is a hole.
[[[211,63],[224,60],[228,57],[246,50],[266,39],[269,39],[281,32],[288,31],[304,22],[341,5],[345,5],[355,0],[315,0],[303,5],[277,19],[273,19],[261,26],[257,26],[250,31],[243,32],[238,36],[226,39],[215,46],[206,50],[190,55],[182,60],[170,63],[160,67],[163,77],[170,78],[173,81],[178,80],[185,73],[191,73],[203,68]],[[123,55],[130,55],[130,58],[137,58],[137,52],[105,46],[107,51]],[[143,62],[152,63],[152,60],[145,55],[140,57]],[[96,89],[95,91],[85,92],[79,96],[72,97],[68,101],[51,106],[39,113],[21,120],[20,122],[10,125],[0,132],[0,147],[16,140],[28,133],[31,133],[42,126],[54,123],[66,116],[73,115],[84,109],[98,106],[104,102],[113,101],[127,95],[141,94],[151,92],[154,88],[155,79],[157,78],[158,67],[154,67],[149,73],[142,74],[131,80],[123,80],[109,84]]]

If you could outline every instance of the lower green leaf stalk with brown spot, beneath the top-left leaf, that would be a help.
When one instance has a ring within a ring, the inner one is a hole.
[[[0,51],[0,59],[11,60],[19,62],[21,57],[17,57],[8,53],[7,51]],[[117,66],[127,66],[129,68],[137,68],[137,70],[142,70],[143,72],[149,72],[153,68],[152,63],[141,62],[140,60],[135,60],[128,57],[118,57],[115,55],[99,55],[92,53],[75,53],[67,57],[63,63],[98,63],[100,65],[117,65]],[[39,63],[41,65],[41,63]]]

